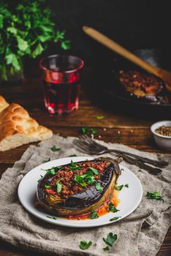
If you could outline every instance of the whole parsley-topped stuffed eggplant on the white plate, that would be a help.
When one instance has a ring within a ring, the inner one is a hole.
[[[87,214],[110,197],[120,174],[117,160],[109,157],[53,167],[38,182],[37,200],[58,216]]]

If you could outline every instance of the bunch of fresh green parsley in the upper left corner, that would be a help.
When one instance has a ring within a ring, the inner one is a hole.
[[[47,42],[59,42],[69,49],[64,31],[55,29],[52,12],[45,0],[22,0],[19,4],[0,3],[0,72],[7,80],[7,69],[15,74],[22,68],[22,57],[36,58],[47,48]]]

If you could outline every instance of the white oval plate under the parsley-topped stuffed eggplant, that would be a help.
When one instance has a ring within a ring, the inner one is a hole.
[[[34,216],[39,219],[44,220],[45,222],[50,222],[55,225],[61,225],[66,227],[96,227],[107,225],[112,222],[118,221],[119,219],[123,219],[134,211],[137,206],[140,204],[142,199],[142,186],[140,184],[140,180],[137,176],[132,173],[131,170],[120,165],[122,170],[121,176],[118,178],[117,184],[129,184],[129,188],[123,187],[121,189],[121,193],[119,194],[119,199],[121,203],[119,203],[117,209],[119,210],[116,213],[108,213],[98,219],[85,219],[85,220],[73,220],[66,219],[62,217],[58,217],[58,219],[50,219],[47,216],[50,214],[40,211],[38,208],[34,206],[35,192],[37,191],[37,181],[41,178],[41,175],[44,176],[46,173],[46,169],[49,169],[53,166],[58,165],[66,165],[71,162],[80,162],[86,159],[91,160],[93,157],[67,157],[56,159],[50,162],[45,162],[42,165],[35,167],[30,170],[20,181],[18,186],[18,197],[20,203],[22,203],[23,207],[26,208]],[[45,169],[45,170],[42,170]],[[120,217],[118,220],[110,221],[113,217]]]

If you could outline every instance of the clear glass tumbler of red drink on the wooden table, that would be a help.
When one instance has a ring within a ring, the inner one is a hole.
[[[49,113],[70,113],[78,108],[83,65],[83,60],[65,55],[49,56],[40,61],[45,108]]]

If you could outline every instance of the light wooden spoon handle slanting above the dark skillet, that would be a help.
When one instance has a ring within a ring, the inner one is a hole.
[[[129,61],[134,62],[138,66],[140,66],[142,69],[145,69],[146,71],[153,73],[154,75],[157,75],[159,72],[158,67],[153,67],[151,64],[148,64],[148,62],[143,61],[133,53],[131,53],[129,50],[126,50],[121,45],[118,45],[116,42],[114,42],[109,37],[104,36],[104,34],[101,34],[99,31],[96,31],[95,29],[91,29],[88,26],[83,26],[83,31],[85,31],[88,36],[94,38],[96,41],[102,43],[102,45],[107,46],[107,48],[110,48],[111,50],[115,51],[115,53],[120,54],[126,59],[129,59]]]

